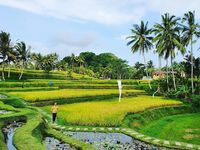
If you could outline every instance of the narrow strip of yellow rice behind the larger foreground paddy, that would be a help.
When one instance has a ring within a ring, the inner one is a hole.
[[[62,89],[52,91],[34,92],[8,92],[10,95],[23,98],[26,101],[49,101],[55,99],[67,99],[74,97],[91,97],[104,95],[118,95],[118,89]],[[144,93],[142,90],[123,90],[123,94]]]

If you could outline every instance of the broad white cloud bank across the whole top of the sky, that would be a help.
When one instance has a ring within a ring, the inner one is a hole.
[[[0,0],[0,5],[64,20],[106,25],[138,22],[149,12],[182,15],[196,10],[200,18],[199,0]]]

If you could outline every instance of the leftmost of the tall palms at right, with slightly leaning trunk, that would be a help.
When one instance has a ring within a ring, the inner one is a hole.
[[[130,41],[127,43],[127,45],[132,45],[131,51],[133,53],[140,52],[144,59],[144,64],[146,68],[146,76],[148,78],[148,70],[146,66],[146,58],[145,58],[145,52],[148,52],[153,47],[151,36],[151,29],[148,29],[148,22],[144,24],[143,21],[141,21],[140,25],[134,24],[133,29],[131,29],[132,35],[128,36],[127,39],[130,39]],[[149,87],[151,88],[150,82]]]

